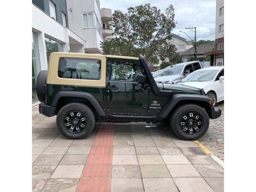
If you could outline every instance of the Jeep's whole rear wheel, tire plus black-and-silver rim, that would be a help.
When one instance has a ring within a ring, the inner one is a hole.
[[[83,139],[93,130],[95,117],[92,110],[83,103],[69,103],[58,112],[56,124],[68,139]]]

